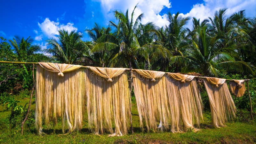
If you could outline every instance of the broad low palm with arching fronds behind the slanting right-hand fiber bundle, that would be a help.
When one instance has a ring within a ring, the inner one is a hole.
[[[220,69],[230,72],[250,72],[254,74],[255,67],[244,61],[236,61],[232,56],[235,50],[220,46],[221,38],[211,33],[208,25],[196,29],[195,35],[190,36],[187,47],[190,64],[184,68],[185,72],[199,72],[205,76],[218,76]]]

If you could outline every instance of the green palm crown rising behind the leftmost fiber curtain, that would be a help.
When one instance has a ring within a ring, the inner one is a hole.
[[[52,54],[52,57],[61,63],[73,64],[77,58],[83,57],[83,52],[88,49],[81,37],[76,31],[68,33],[64,29],[59,30],[59,41],[54,38],[46,40],[48,47],[44,52]]]

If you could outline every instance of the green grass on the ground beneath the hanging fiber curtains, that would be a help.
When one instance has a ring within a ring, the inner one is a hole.
[[[20,100],[20,105],[25,105],[29,99]],[[35,109],[35,104],[31,105]],[[39,136],[35,132],[34,125],[25,125],[24,135],[20,135],[19,126],[9,131],[8,116],[0,106],[0,143],[256,143],[255,123],[228,123],[223,128],[207,128],[211,122],[209,112],[204,113],[204,122],[201,123],[201,130],[198,132],[188,131],[185,133],[171,132],[141,132],[139,117],[135,101],[132,105],[132,122],[134,133],[122,137],[108,137],[108,135],[97,136],[87,129],[87,119],[84,118],[84,127],[79,132],[72,132],[66,135],[61,134],[61,124],[56,129],[44,129],[46,135]]]

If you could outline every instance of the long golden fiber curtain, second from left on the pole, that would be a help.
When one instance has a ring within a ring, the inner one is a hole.
[[[125,68],[88,67],[87,112],[95,134],[122,136],[130,126],[130,91]],[[115,130],[113,130],[115,127]]]

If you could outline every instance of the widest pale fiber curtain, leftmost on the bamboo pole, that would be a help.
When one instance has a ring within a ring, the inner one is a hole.
[[[36,129],[62,120],[62,131],[82,128],[85,73],[81,66],[40,62],[36,67]],[[65,75],[63,74],[65,73]]]

